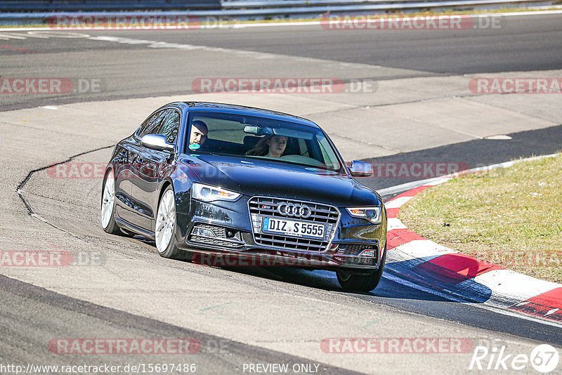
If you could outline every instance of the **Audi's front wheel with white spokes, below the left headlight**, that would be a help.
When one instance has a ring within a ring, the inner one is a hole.
[[[164,258],[190,260],[191,253],[182,251],[178,244],[176,225],[176,199],[171,186],[166,187],[156,213],[155,242],[158,254]]]

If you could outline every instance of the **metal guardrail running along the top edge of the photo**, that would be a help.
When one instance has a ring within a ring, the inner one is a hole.
[[[2,0],[0,1],[0,25],[41,24],[55,16],[78,17],[100,14],[101,11],[107,17],[141,16],[146,15],[146,11],[153,11],[152,13],[158,11],[159,15],[247,20],[275,17],[317,17],[329,13],[390,13],[429,9],[551,6],[554,1],[557,0]],[[87,6],[84,5],[86,3]],[[86,8],[83,8],[84,6]],[[45,7],[47,8],[45,9]],[[119,12],[116,12],[115,9],[119,9]],[[170,11],[171,9],[174,11]]]

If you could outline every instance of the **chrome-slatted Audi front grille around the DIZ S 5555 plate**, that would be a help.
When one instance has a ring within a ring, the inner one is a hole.
[[[282,203],[306,204],[311,208],[311,216],[306,219],[287,217],[277,212],[277,206]],[[253,197],[248,202],[251,225],[254,230],[256,244],[282,249],[299,251],[325,251],[332,241],[339,222],[339,211],[334,206],[327,204],[304,202],[295,199],[273,198],[273,197]],[[305,223],[325,224],[325,235],[322,239],[310,239],[303,237],[285,236],[282,234],[273,235],[261,232],[261,221],[264,216],[272,218],[285,218],[289,220],[303,221]]]

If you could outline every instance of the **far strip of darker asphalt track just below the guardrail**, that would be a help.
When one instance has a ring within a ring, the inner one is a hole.
[[[193,92],[191,83],[198,77],[239,77],[242,74],[249,77],[248,72],[256,77],[292,77],[294,60],[287,60],[287,56],[301,58],[298,61],[302,77],[309,77],[306,74],[310,75],[311,71],[315,73],[314,77],[324,72],[318,70],[317,64],[311,67],[302,58],[347,62],[350,64],[346,65],[348,72],[333,67],[329,70],[344,80],[560,69],[562,25],[559,14],[497,18],[499,29],[413,32],[337,31],[321,25],[32,32],[27,37],[21,32],[3,32],[4,37],[0,35],[0,44],[4,45],[0,47],[3,77],[14,74],[23,77],[22,74],[39,72],[44,77],[63,74],[62,77],[101,79],[102,89],[97,93],[67,96],[3,96],[0,109],[34,107],[44,103],[183,95]],[[122,37],[130,41],[110,43],[84,36]],[[157,51],[148,52],[147,44],[139,41],[157,41],[160,46],[155,46]],[[177,48],[164,48],[162,42],[209,47],[203,50],[206,52],[205,63],[193,59],[200,57],[197,52],[201,50],[178,53]],[[211,59],[212,48],[224,48],[226,54],[237,58]],[[251,52],[262,55],[252,55]],[[251,59],[247,61],[244,56]]]

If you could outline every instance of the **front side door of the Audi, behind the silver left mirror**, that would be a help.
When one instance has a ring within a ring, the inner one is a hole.
[[[159,126],[151,129],[152,134],[162,134],[166,137],[166,143],[175,144],[180,124],[180,113],[174,109],[164,111]],[[158,209],[158,187],[162,180],[162,171],[171,162],[169,151],[151,150],[142,147],[138,154],[136,166],[137,176],[133,180],[132,195],[137,202],[138,210],[136,225],[154,231],[155,212]]]

